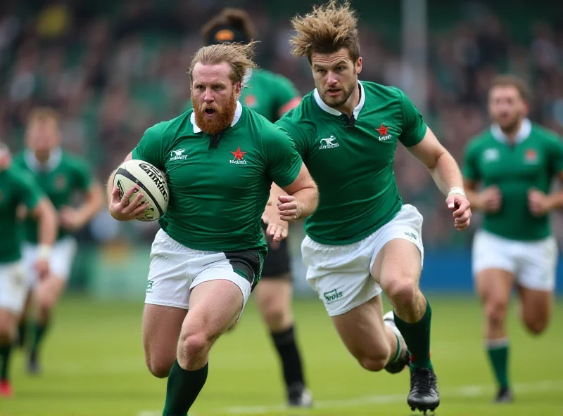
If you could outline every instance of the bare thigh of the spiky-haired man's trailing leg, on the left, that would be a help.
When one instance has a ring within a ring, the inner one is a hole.
[[[383,323],[381,295],[331,319],[342,342],[363,368],[379,371],[385,367],[391,346]]]

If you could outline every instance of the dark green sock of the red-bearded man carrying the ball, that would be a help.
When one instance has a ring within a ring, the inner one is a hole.
[[[163,416],[187,416],[205,384],[208,370],[209,363],[199,370],[189,371],[180,367],[178,360],[175,360],[168,375]]]

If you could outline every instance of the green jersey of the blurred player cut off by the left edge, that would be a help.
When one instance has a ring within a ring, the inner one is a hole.
[[[16,219],[18,205],[33,210],[41,197],[41,190],[27,172],[13,165],[0,171],[0,264],[21,258],[23,233],[22,224]]]

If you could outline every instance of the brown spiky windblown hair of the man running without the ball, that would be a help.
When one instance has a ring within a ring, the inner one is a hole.
[[[291,25],[296,31],[290,40],[295,56],[306,56],[311,62],[313,52],[334,53],[346,48],[354,62],[360,58],[358,18],[348,1],[331,0],[315,6],[305,16],[296,15]]]

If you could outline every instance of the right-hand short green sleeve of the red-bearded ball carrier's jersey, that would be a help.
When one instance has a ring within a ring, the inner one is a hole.
[[[272,125],[262,136],[262,143],[270,179],[280,188],[291,185],[303,162],[287,133]]]

